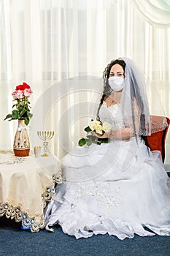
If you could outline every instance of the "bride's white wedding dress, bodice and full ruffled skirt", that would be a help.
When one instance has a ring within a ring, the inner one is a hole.
[[[119,105],[107,108],[104,102],[100,117],[112,129],[123,128]],[[77,146],[62,165],[66,182],[45,209],[47,230],[58,223],[76,238],[170,236],[169,177],[160,152],[140,138]]]

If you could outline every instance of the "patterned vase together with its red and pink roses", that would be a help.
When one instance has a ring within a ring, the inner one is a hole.
[[[17,157],[27,157],[30,151],[30,140],[28,137],[28,124],[32,117],[31,106],[28,98],[31,96],[31,87],[27,83],[16,86],[12,92],[15,104],[12,105],[11,114],[8,114],[4,120],[18,119],[18,128],[15,133],[13,151]]]

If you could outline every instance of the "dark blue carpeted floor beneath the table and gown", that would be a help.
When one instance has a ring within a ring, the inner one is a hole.
[[[20,230],[20,224],[0,218],[0,256],[170,256],[170,237],[152,236],[126,238],[98,235],[76,240],[64,234]]]

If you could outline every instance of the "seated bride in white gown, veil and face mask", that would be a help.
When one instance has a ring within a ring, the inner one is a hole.
[[[63,157],[65,181],[45,209],[46,229],[59,224],[76,238],[170,236],[169,178],[160,152],[151,152],[144,139],[166,121],[151,129],[144,83],[133,61],[111,61],[103,78],[97,118],[112,129],[94,135],[109,143],[77,146]]]

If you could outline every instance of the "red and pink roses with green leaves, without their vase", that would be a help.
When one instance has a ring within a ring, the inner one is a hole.
[[[15,91],[12,92],[12,96],[16,103],[12,105],[11,114],[8,114],[4,120],[9,118],[9,121],[14,119],[23,119],[24,123],[28,125],[32,114],[30,113],[31,107],[30,102],[28,101],[28,97],[32,94],[31,87],[28,86],[27,83],[23,83],[22,85],[16,86]]]

